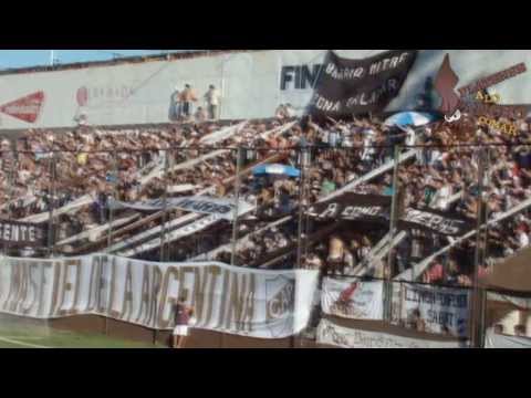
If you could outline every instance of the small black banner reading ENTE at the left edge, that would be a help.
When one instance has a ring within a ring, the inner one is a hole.
[[[40,224],[0,220],[0,244],[23,248],[44,248],[48,228]]]

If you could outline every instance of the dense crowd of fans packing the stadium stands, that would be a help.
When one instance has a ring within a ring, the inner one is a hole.
[[[80,127],[58,134],[28,132],[15,140],[14,147],[4,139],[0,168],[2,217],[23,220],[88,195],[90,205],[58,218],[62,237],[72,237],[105,226],[108,197],[138,201],[160,198],[166,192],[169,197],[211,195],[233,199],[239,156],[233,148],[238,146],[246,148],[241,170],[271,161],[304,171],[303,178],[242,175],[240,199],[253,205],[254,210],[238,224],[240,243],[236,262],[240,265],[258,266],[262,259],[275,263],[271,261],[275,260],[275,253],[284,260],[291,255],[290,261],[293,260],[300,241],[296,239],[300,207],[306,209],[378,167],[392,165],[395,144],[409,146],[402,150],[403,154],[415,153],[399,166],[398,187],[393,187],[393,169],[389,167],[352,190],[391,196],[398,188],[405,193],[405,207],[447,211],[471,223],[477,220],[481,199],[485,202],[481,217],[493,221],[531,197],[531,130],[523,121],[518,122],[517,136],[479,126],[466,115],[455,125],[439,122],[415,129],[388,127],[374,118],[355,118],[348,123],[331,119],[320,125],[304,118],[289,124],[293,121],[290,107],[289,104],[279,107],[277,118],[235,127],[232,134],[215,144],[211,139],[204,139],[227,128],[219,122],[176,123],[134,130]],[[489,145],[488,156],[483,156],[486,145]],[[55,154],[51,155],[50,150]],[[168,172],[164,171],[166,161]],[[482,187],[478,184],[480,165],[485,171]],[[119,210],[114,216],[119,218],[132,213],[132,210]],[[171,210],[169,220],[184,214]],[[489,224],[488,245],[483,248],[482,258],[485,266],[529,245],[529,216],[523,209],[513,217]],[[282,218],[287,220],[269,227]],[[303,220],[303,238],[309,238],[317,227],[306,216]],[[155,228],[160,222],[160,218],[152,220],[119,238],[134,237],[146,227]],[[216,230],[225,235],[223,239],[205,240],[200,245],[196,242],[189,255],[186,248],[191,243],[177,242],[175,245],[180,248],[178,258],[191,259],[227,245],[232,224],[225,222],[223,226]],[[385,231],[354,235],[333,232],[319,242],[306,242],[302,263],[312,269],[352,274],[360,264],[368,263],[366,256],[384,235]],[[86,243],[87,239],[80,242]],[[82,245],[80,242],[77,245]],[[393,273],[410,268],[451,243],[451,238],[407,230],[391,252],[395,264]],[[434,259],[421,279],[430,283],[470,284],[475,244],[475,239],[455,244]],[[229,261],[230,250],[227,247],[218,251],[216,259]]]

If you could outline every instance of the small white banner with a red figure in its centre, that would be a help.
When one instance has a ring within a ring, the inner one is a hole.
[[[323,283],[321,306],[323,312],[351,320],[383,320],[383,282],[334,280]]]

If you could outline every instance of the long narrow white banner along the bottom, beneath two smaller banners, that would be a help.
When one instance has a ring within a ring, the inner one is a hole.
[[[462,348],[462,342],[437,342],[402,337],[383,332],[368,332],[340,326],[322,320],[317,327],[317,344],[342,348]]]

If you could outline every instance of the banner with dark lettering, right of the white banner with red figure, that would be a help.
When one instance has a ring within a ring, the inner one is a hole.
[[[400,321],[421,322],[426,333],[468,335],[470,292],[465,289],[402,285]]]

